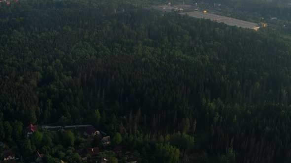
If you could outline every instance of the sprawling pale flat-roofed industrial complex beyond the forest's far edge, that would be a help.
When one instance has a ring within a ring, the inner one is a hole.
[[[172,8],[170,9],[168,7],[169,6],[167,6],[167,8],[164,6],[154,6],[153,9],[163,11],[163,12],[171,12]],[[212,21],[217,21],[218,23],[223,22],[224,24],[226,24],[228,26],[251,28],[251,29],[255,29],[255,30],[258,30],[260,28],[260,25],[257,23],[251,23],[251,22],[233,19],[233,18],[229,18],[229,17],[225,17],[225,16],[216,15],[216,14],[211,14],[211,13],[207,13],[207,12],[205,13],[203,11],[184,12],[184,13],[180,13],[180,14],[182,16],[185,14],[188,14],[190,17],[196,18],[196,19],[204,18],[204,19],[210,19]]]

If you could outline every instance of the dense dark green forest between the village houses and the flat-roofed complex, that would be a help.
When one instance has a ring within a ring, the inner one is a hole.
[[[1,3],[0,140],[22,142],[24,156],[41,150],[48,163],[78,162],[73,148],[98,137],[23,140],[22,127],[92,124],[144,163],[290,163],[290,54],[271,27],[122,1]]]

